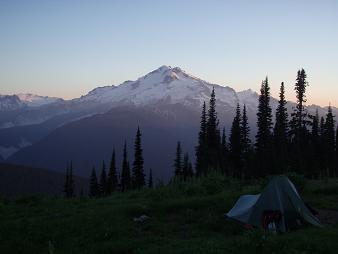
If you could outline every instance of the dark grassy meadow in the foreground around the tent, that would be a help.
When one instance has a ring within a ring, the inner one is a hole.
[[[2,199],[0,253],[337,253],[336,179],[294,180],[303,200],[324,211],[323,228],[274,235],[224,218],[265,182],[210,176],[97,199]],[[149,219],[134,221],[142,215]]]

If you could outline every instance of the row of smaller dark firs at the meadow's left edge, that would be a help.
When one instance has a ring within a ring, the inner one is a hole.
[[[112,152],[108,171],[105,161],[102,162],[102,167],[99,175],[97,174],[95,166],[93,166],[89,182],[89,196],[109,196],[116,191],[125,192],[131,189],[141,189],[146,185],[149,188],[153,187],[153,176],[151,169],[149,171],[148,182],[146,184],[141,137],[141,130],[138,127],[134,142],[134,161],[132,164],[132,168],[130,167],[130,163],[128,160],[126,141],[123,147],[121,174],[118,172],[116,167],[115,149],[113,149]],[[72,162],[70,163],[70,166],[67,166],[66,169],[64,193],[65,197],[67,198],[73,197],[75,195]]]

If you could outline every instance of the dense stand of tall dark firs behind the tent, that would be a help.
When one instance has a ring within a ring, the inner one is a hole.
[[[268,78],[262,81],[258,110],[257,134],[250,140],[246,106],[237,105],[229,138],[222,133],[216,112],[216,95],[211,93],[209,108],[202,107],[198,145],[196,147],[197,176],[220,172],[237,178],[264,177],[296,172],[306,177],[338,176],[338,128],[331,106],[325,117],[307,112],[304,69],[297,72],[294,90],[297,105],[289,115],[285,87],[281,83],[278,107],[270,105]],[[176,171],[176,170],[175,170]]]

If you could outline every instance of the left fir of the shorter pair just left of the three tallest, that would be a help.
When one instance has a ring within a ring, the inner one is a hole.
[[[232,122],[229,138],[229,157],[231,173],[235,177],[242,177],[242,137],[241,137],[241,109],[237,104],[236,115]]]

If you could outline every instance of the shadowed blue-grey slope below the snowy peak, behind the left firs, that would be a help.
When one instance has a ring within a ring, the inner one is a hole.
[[[121,107],[88,117],[56,129],[33,146],[22,149],[8,161],[53,170],[73,160],[76,173],[89,176],[93,165],[101,169],[102,160],[110,162],[113,148],[121,169],[122,148],[127,141],[130,163],[137,126],[142,131],[145,172],[153,169],[154,179],[168,180],[177,141],[194,157],[199,114],[181,105],[161,108]]]

